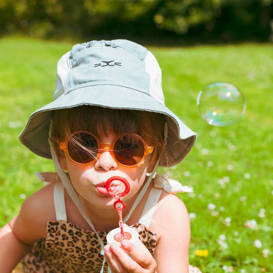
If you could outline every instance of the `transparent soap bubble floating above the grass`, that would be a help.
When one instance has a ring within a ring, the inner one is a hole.
[[[237,122],[244,114],[244,94],[227,82],[215,82],[201,90],[197,97],[201,117],[210,125],[224,127]]]

